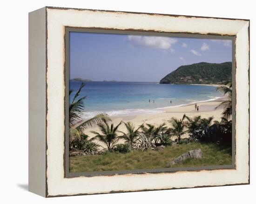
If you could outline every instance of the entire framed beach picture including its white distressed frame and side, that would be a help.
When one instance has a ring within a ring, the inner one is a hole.
[[[29,13],[29,191],[249,184],[249,20]]]

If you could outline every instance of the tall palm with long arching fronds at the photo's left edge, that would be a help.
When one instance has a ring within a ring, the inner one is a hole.
[[[86,127],[92,127],[103,120],[109,121],[110,118],[107,114],[99,114],[90,118],[87,121],[82,121],[82,115],[84,113],[84,100],[86,96],[78,98],[80,96],[81,89],[85,86],[81,83],[79,89],[75,92],[73,100],[69,103],[69,141],[72,143],[74,140],[81,140],[84,136],[83,131]],[[69,90],[69,97],[74,92],[73,89]]]

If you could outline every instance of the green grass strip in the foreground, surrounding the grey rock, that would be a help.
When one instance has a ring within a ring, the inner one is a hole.
[[[186,159],[171,167],[231,165],[231,148],[219,147],[216,144],[189,143],[168,146],[157,152],[131,151],[129,153],[107,152],[103,155],[86,155],[69,157],[70,172],[115,171],[131,169],[166,168],[168,163],[189,150],[201,148],[203,159]]]

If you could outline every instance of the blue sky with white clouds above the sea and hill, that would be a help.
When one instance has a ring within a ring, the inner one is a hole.
[[[181,65],[232,61],[231,40],[70,32],[70,78],[159,82]]]

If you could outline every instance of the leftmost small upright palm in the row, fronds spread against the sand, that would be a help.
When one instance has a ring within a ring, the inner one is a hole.
[[[113,149],[116,143],[119,140],[119,136],[117,135],[118,127],[121,125],[122,121],[117,125],[114,126],[112,123],[109,127],[108,122],[103,119],[103,122],[98,124],[98,127],[101,130],[101,134],[95,131],[91,131],[91,133],[96,134],[93,139],[98,139],[103,142],[107,147],[108,150]]]

